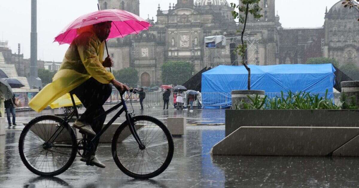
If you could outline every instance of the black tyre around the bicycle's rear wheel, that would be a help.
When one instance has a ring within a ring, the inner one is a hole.
[[[25,139],[25,138],[28,138],[28,137],[25,137],[25,136],[27,136],[27,134],[30,132],[29,130],[30,130],[34,125],[36,125],[38,122],[42,122],[42,121],[45,121],[45,120],[53,121],[53,122],[56,122],[56,123],[58,123],[58,124],[60,124],[61,122],[64,121],[64,120],[61,119],[60,117],[51,116],[51,115],[39,116],[39,117],[36,117],[35,119],[31,120],[31,121],[24,127],[24,129],[22,130],[22,132],[21,132],[21,134],[20,134],[20,139],[19,139],[19,154],[20,154],[20,158],[21,158],[22,162],[24,163],[25,167],[26,167],[27,169],[29,169],[32,173],[37,174],[37,175],[40,175],[40,176],[43,176],[43,177],[53,177],[53,176],[56,176],[56,175],[59,175],[59,174],[65,172],[65,171],[71,166],[71,164],[74,162],[74,160],[75,160],[75,158],[76,158],[77,148],[76,148],[76,147],[72,148],[72,149],[71,149],[71,152],[70,152],[70,155],[67,155],[67,156],[69,156],[69,159],[66,161],[66,163],[64,163],[64,165],[63,165],[61,168],[57,169],[57,170],[55,170],[55,167],[53,167],[53,168],[54,168],[54,171],[53,171],[53,172],[42,172],[41,170],[36,169],[35,167],[33,167],[32,163],[29,163],[29,161],[27,160],[27,157],[25,156],[25,153],[24,153],[24,142],[25,142],[25,140],[27,140],[27,139]],[[41,129],[38,130],[38,127],[39,127],[41,124],[37,124],[37,125],[38,125],[38,126],[37,126],[37,127],[34,126],[34,129],[31,130],[31,132],[30,132],[31,134],[33,134],[33,135],[35,135],[35,136],[37,136],[36,133],[34,133],[34,130],[35,130],[35,129],[36,129],[38,132],[42,131]],[[43,126],[44,126],[44,125],[43,125]],[[56,126],[56,125],[55,125],[55,126]],[[72,144],[73,146],[76,146],[77,143],[76,143],[76,136],[75,136],[74,130],[70,127],[70,125],[69,125],[67,122],[63,122],[63,124],[62,124],[61,126],[65,126],[66,132],[68,132],[68,133],[69,133],[68,136],[70,136],[70,140],[64,140],[64,141],[66,141],[66,142],[71,141],[71,144]],[[48,129],[50,129],[50,128],[48,128]],[[65,129],[64,129],[64,130],[65,130]],[[62,131],[64,131],[64,130],[62,130]],[[52,129],[51,129],[51,131],[52,131]],[[62,134],[62,131],[60,132],[61,134]],[[43,131],[43,132],[45,132],[45,131]],[[65,134],[66,134],[66,132],[65,132]],[[43,135],[45,135],[45,133],[43,133]],[[38,140],[39,140],[39,144],[41,144],[41,141],[43,141],[43,139],[41,139],[40,136],[38,136],[38,137],[40,138],[40,139],[38,139]],[[49,136],[48,136],[48,137],[49,137]],[[45,136],[45,138],[46,138],[46,136]],[[36,141],[37,141],[37,140],[36,140]],[[64,141],[62,141],[62,140],[56,140],[56,141],[58,141],[58,142],[64,142]],[[47,141],[43,141],[43,142],[46,143]],[[27,144],[27,145],[29,145],[29,144]],[[36,145],[34,145],[34,147],[35,147],[35,146],[36,146]],[[25,149],[26,149],[26,148],[25,148]],[[40,148],[37,147],[37,149],[41,149],[41,147],[40,147]],[[33,150],[33,149],[29,149],[29,150]],[[58,153],[58,152],[53,151],[53,150],[47,150],[46,155],[47,155],[47,153],[49,153],[48,151],[51,152],[51,154],[52,154],[52,159],[56,159],[56,158],[54,157],[54,155],[53,155],[53,152],[55,152],[55,153]],[[41,151],[41,153],[42,153],[42,151]],[[40,154],[41,154],[41,153],[40,153]],[[40,155],[40,154],[39,154],[39,155]],[[63,154],[62,154],[62,155],[63,155]],[[49,156],[50,156],[50,154],[49,154]],[[39,157],[38,157],[38,158],[39,158]],[[48,158],[46,158],[46,159],[48,159]],[[45,157],[43,158],[43,160],[45,161]],[[45,163],[45,162],[44,162],[44,163]],[[53,163],[53,165],[55,165],[55,164],[56,164],[56,163]],[[35,166],[36,166],[36,165],[35,165]],[[49,168],[50,168],[50,165],[49,165]]]

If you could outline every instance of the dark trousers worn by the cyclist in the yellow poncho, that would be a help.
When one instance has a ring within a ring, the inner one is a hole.
[[[97,119],[94,119],[94,117],[105,112],[102,106],[111,95],[111,92],[112,86],[110,84],[100,83],[93,77],[70,92],[75,94],[86,108],[79,121],[89,123],[96,134],[101,131],[106,115]],[[88,135],[88,139],[92,140],[93,138],[94,136]],[[98,141],[94,144],[93,155],[97,149]]]

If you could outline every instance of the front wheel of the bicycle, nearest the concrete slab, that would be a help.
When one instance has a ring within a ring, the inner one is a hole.
[[[162,173],[171,163],[173,139],[167,127],[150,116],[132,117],[145,149],[141,150],[125,121],[112,139],[112,156],[118,168],[132,178],[148,179]]]

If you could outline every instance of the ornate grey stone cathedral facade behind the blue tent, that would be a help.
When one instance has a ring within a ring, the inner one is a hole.
[[[139,15],[139,0],[99,0],[99,4],[101,9],[122,9]],[[177,0],[165,10],[161,6],[157,7],[155,23],[148,18],[153,25],[150,30],[109,40],[113,69],[134,67],[139,71],[139,85],[151,86],[162,84],[161,67],[166,61],[191,62],[194,74],[219,59],[224,59],[222,64],[231,64],[229,45],[233,40],[229,38],[239,36],[241,24],[232,18],[233,9],[226,0]],[[322,27],[286,29],[275,14],[275,0],[261,0],[260,6],[264,16],[259,20],[250,17],[246,29],[246,34],[256,39],[248,57],[254,64],[297,64],[311,57],[330,57],[340,64],[359,66],[358,11],[343,8],[339,1],[329,11],[323,10]],[[219,53],[205,48],[204,37],[212,35],[228,38]]]

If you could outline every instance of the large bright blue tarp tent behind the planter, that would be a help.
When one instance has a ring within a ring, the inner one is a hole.
[[[266,93],[325,93],[332,97],[335,68],[332,64],[249,65],[251,89]],[[232,90],[247,90],[248,72],[244,66],[218,66],[202,73],[202,101],[206,108],[232,105]]]

